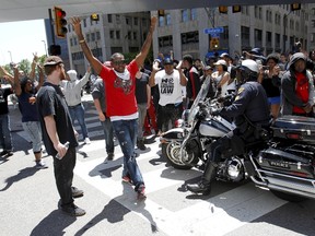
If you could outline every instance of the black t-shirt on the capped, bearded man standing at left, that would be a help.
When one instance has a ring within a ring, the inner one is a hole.
[[[57,151],[47,133],[44,118],[54,116],[56,129],[61,143],[70,142],[70,148],[78,146],[72,121],[69,115],[65,96],[58,85],[45,82],[37,93],[38,116],[43,131],[43,141],[47,153],[55,156]]]

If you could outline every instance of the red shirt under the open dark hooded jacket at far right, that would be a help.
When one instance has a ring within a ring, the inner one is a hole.
[[[305,73],[295,72],[296,83],[295,83],[295,95],[300,97],[303,103],[308,102],[308,79]],[[293,113],[305,114],[305,110],[301,107],[293,107]]]

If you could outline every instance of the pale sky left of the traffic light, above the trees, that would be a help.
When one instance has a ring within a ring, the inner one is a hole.
[[[33,54],[45,55],[47,39],[44,20],[0,23],[0,64],[23,59],[32,61]],[[44,42],[45,44],[44,44]]]

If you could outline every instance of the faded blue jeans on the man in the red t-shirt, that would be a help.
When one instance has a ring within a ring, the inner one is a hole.
[[[139,186],[144,185],[135,154],[138,119],[116,120],[112,123],[124,153],[122,177],[129,175],[136,186],[135,191],[138,191]]]

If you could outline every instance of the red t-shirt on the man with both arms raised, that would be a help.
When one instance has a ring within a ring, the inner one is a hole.
[[[100,76],[105,82],[105,94],[107,110],[106,115],[129,116],[137,113],[136,73],[139,68],[136,60],[132,60],[127,67],[130,73],[130,80],[122,80],[116,75],[113,69],[103,66]]]

